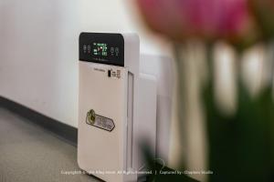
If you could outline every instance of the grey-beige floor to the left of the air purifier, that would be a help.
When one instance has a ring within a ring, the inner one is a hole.
[[[0,106],[0,182],[99,181],[79,172],[76,147]]]

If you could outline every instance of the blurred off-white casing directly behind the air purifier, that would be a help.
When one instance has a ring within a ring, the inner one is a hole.
[[[171,141],[172,96],[175,86],[173,60],[168,56],[141,55],[140,72],[157,81],[156,157],[168,163]]]

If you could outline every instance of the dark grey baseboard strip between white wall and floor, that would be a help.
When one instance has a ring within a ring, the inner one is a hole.
[[[33,109],[18,104],[3,96],[0,96],[0,106],[19,116],[25,117],[30,122],[45,128],[47,131],[55,134],[61,139],[64,139],[71,145],[77,146],[78,129],[76,127],[68,126],[56,119],[44,116]]]

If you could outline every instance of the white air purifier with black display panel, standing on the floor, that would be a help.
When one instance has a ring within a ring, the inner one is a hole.
[[[79,167],[108,182],[142,178],[140,141],[156,148],[155,76],[135,34],[79,35]]]

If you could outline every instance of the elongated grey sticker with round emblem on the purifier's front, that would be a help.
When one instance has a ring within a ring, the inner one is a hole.
[[[100,116],[95,113],[93,109],[87,113],[86,123],[90,126],[99,127],[100,129],[112,131],[115,127],[111,118]]]

